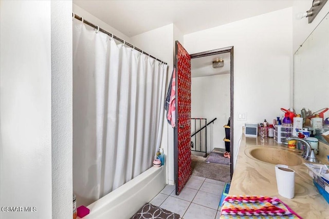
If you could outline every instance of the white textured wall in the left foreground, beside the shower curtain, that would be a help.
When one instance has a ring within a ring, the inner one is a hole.
[[[72,215],[71,4],[1,1],[1,218]]]

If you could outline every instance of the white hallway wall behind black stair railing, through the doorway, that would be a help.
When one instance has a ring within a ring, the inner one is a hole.
[[[210,153],[214,148],[225,148],[223,126],[230,117],[230,74],[192,77],[191,117],[207,118],[207,123],[217,118],[207,127],[207,152]],[[198,143],[195,144],[199,147]]]

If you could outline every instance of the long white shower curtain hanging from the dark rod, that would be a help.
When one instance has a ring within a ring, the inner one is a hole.
[[[152,166],[167,65],[75,19],[73,186],[88,205]]]

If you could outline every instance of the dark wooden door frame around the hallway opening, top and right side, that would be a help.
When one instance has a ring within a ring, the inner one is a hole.
[[[231,122],[230,122],[230,153],[231,153],[231,158],[230,158],[230,175],[231,175],[231,180],[233,176],[233,162],[234,162],[234,150],[233,150],[233,145],[234,145],[234,47],[225,47],[225,48],[220,48],[220,49],[214,49],[214,50],[209,50],[205,52],[198,52],[194,54],[190,54],[191,59],[193,58],[199,58],[199,57],[205,57],[205,56],[210,56],[210,55],[216,55],[216,54],[222,54],[222,53],[230,53],[230,99],[231,99],[231,110],[230,110],[230,117],[231,117]]]

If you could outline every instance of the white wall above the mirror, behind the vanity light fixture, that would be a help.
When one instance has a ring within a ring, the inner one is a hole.
[[[299,12],[306,12],[312,7],[313,0],[294,1],[293,4],[293,39],[294,46],[293,52],[295,53],[300,45],[303,44],[305,39],[316,28],[316,26],[322,21],[323,17],[329,12],[329,3],[327,2],[318,15],[314,18],[313,22],[308,24],[308,17],[302,19],[296,19],[296,15]]]

